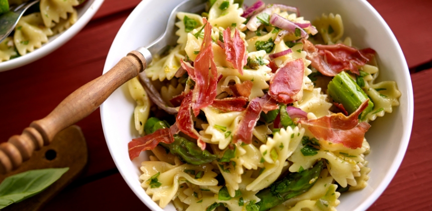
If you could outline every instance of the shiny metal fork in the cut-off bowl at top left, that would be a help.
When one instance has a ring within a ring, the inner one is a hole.
[[[9,11],[0,16],[0,43],[3,41],[15,28],[22,14],[33,4],[39,0],[27,1],[20,5],[9,7]]]

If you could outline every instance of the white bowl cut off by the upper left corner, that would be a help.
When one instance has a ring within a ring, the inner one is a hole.
[[[90,21],[91,17],[99,9],[104,0],[87,0],[82,7],[77,8],[78,19],[71,28],[63,31],[60,34],[48,37],[48,43],[42,45],[41,48],[35,49],[24,56],[20,56],[9,61],[0,62],[0,72],[19,68],[21,66],[32,63],[68,42],[76,33],[78,33]]]

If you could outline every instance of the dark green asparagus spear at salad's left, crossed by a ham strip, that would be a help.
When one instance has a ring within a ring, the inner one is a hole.
[[[162,128],[169,128],[169,124],[155,117],[149,118],[144,124],[146,134],[154,133],[156,130]],[[196,143],[178,135],[174,135],[174,142],[171,144],[159,144],[168,149],[172,154],[177,155],[183,162],[189,164],[201,165],[210,163],[217,158],[216,155],[210,153],[208,150],[202,151]]]

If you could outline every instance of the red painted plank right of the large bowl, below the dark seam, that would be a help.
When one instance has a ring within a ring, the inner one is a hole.
[[[414,123],[401,167],[369,211],[432,210],[432,69],[411,75],[414,89]]]

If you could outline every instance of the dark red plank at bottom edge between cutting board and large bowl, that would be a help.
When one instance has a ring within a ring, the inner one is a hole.
[[[150,211],[120,173],[61,192],[43,211]]]

